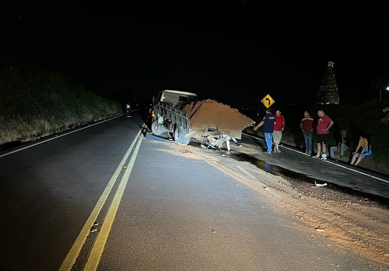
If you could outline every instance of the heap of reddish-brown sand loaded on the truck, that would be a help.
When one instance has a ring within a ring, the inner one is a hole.
[[[254,123],[237,109],[209,99],[190,103],[182,111],[189,115],[193,130],[217,128],[235,139],[241,139],[241,131]]]

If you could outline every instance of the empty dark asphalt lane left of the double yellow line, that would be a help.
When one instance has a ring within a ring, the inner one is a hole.
[[[0,158],[0,269],[58,269],[139,123],[120,117]]]

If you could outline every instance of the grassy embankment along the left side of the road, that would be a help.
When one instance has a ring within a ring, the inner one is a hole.
[[[0,70],[0,145],[26,142],[122,113],[118,102],[59,73]]]

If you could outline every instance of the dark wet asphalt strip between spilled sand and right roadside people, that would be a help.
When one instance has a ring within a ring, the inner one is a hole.
[[[281,146],[281,153],[266,153],[266,143],[254,134],[243,134],[240,143],[254,146],[256,148],[242,150],[231,144],[231,148],[265,161],[270,166],[271,171],[277,173],[282,169],[291,170],[295,173],[301,173],[299,178],[307,179],[309,182],[317,180],[320,183],[327,182],[339,187],[343,187],[349,192],[361,192],[380,200],[384,204],[389,204],[389,176],[378,172],[368,171],[366,169],[348,165],[346,163],[328,159],[320,161],[300,150],[290,146]],[[274,169],[271,168],[274,167]],[[287,175],[287,173],[285,173]],[[296,175],[296,174],[291,174]],[[353,191],[352,191],[353,190]]]

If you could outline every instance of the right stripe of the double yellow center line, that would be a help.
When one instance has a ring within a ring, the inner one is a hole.
[[[104,246],[107,242],[108,235],[111,231],[112,223],[115,219],[116,212],[118,211],[120,201],[122,200],[124,189],[127,186],[127,182],[130,177],[132,168],[134,166],[135,159],[138,154],[141,143],[142,143],[142,138],[140,138],[138,143],[136,144],[134,153],[132,154],[130,162],[128,163],[128,168],[126,172],[124,172],[122,180],[120,181],[118,190],[116,191],[115,197],[112,200],[107,216],[103,221],[102,228],[99,232],[98,237],[96,238],[96,241],[93,244],[92,250],[89,254],[89,258],[83,270],[94,271],[99,265],[101,256],[103,254]]]

